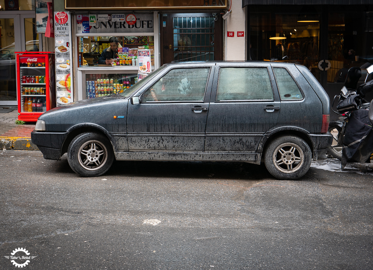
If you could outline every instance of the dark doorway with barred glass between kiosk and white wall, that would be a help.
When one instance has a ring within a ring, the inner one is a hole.
[[[172,61],[222,60],[222,19],[213,13],[160,16],[161,64]]]

